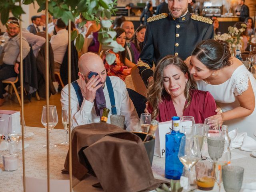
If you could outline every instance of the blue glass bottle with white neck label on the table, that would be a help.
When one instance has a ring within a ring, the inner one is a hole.
[[[178,180],[182,174],[183,164],[178,158],[180,149],[180,141],[183,133],[180,133],[180,117],[172,117],[172,132],[165,135],[165,172],[164,175],[168,179]]]

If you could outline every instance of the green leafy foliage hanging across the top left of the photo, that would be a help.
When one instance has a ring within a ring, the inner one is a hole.
[[[116,1],[112,0],[50,0],[48,1],[48,11],[55,18],[62,18],[63,22],[68,25],[68,20],[75,21],[75,18],[82,14],[86,20],[95,20],[97,24],[101,24],[101,29],[99,33],[99,41],[102,43],[103,47],[108,47],[113,49],[114,52],[124,50],[122,46],[114,41],[115,32],[110,28],[112,22],[110,19],[111,14],[114,14],[116,9]],[[6,24],[8,21],[9,13],[11,12],[15,17],[19,18],[21,14],[24,14],[24,10],[19,6],[19,0],[7,0],[0,3],[0,14],[2,24]],[[38,12],[46,9],[46,0],[23,0],[22,4],[34,4],[37,2],[39,5]],[[106,18],[106,20],[102,20]],[[83,21],[84,25],[86,21]],[[78,34],[76,37],[75,33],[71,34],[72,40],[76,38],[76,48],[81,50],[84,44],[84,37],[82,34]],[[108,56],[113,60],[113,56]],[[107,60],[108,61],[108,60]],[[111,64],[110,60],[108,61]]]

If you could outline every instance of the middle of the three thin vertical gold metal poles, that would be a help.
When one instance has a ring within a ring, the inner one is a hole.
[[[46,76],[46,116],[47,116],[47,191],[50,192],[50,156],[49,156],[49,146],[50,146],[50,136],[49,136],[49,36],[48,36],[48,0],[45,2],[45,15],[46,15],[46,46],[45,46],[45,76]]]

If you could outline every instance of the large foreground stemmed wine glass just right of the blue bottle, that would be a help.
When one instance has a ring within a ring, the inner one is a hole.
[[[178,153],[180,162],[188,169],[188,181],[190,169],[200,160],[200,148],[198,138],[192,135],[183,136],[180,142],[180,150]],[[188,182],[188,190],[190,183]]]

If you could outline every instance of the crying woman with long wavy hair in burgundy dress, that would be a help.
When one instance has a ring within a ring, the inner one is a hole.
[[[176,56],[160,60],[148,88],[148,112],[159,122],[172,116],[193,116],[196,123],[216,114],[215,100],[209,92],[193,89],[186,64]]]

